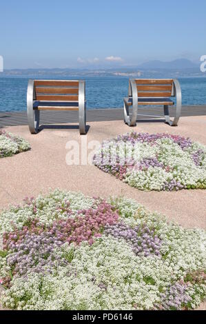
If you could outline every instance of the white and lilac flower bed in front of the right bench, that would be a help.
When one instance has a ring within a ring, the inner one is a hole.
[[[206,188],[206,147],[178,135],[117,136],[102,143],[94,165],[140,190]]]

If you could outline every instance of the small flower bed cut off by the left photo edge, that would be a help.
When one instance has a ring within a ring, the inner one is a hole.
[[[30,144],[20,136],[0,130],[0,159],[30,150]]]

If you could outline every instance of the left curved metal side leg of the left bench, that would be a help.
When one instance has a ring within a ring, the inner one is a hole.
[[[39,110],[34,110],[33,101],[35,100],[34,81],[28,81],[27,90],[27,117],[28,126],[32,134],[37,134],[39,129]]]

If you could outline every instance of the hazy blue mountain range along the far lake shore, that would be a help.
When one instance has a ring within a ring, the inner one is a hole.
[[[116,66],[105,68],[103,66],[75,69],[75,68],[30,68],[4,70],[0,77],[206,77],[200,72],[200,64],[188,59],[174,61],[148,61],[134,66]]]

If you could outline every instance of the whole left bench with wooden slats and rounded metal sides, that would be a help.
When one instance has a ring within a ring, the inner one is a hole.
[[[85,81],[29,80],[27,114],[32,134],[38,132],[40,110],[78,110],[79,132],[85,134]]]

